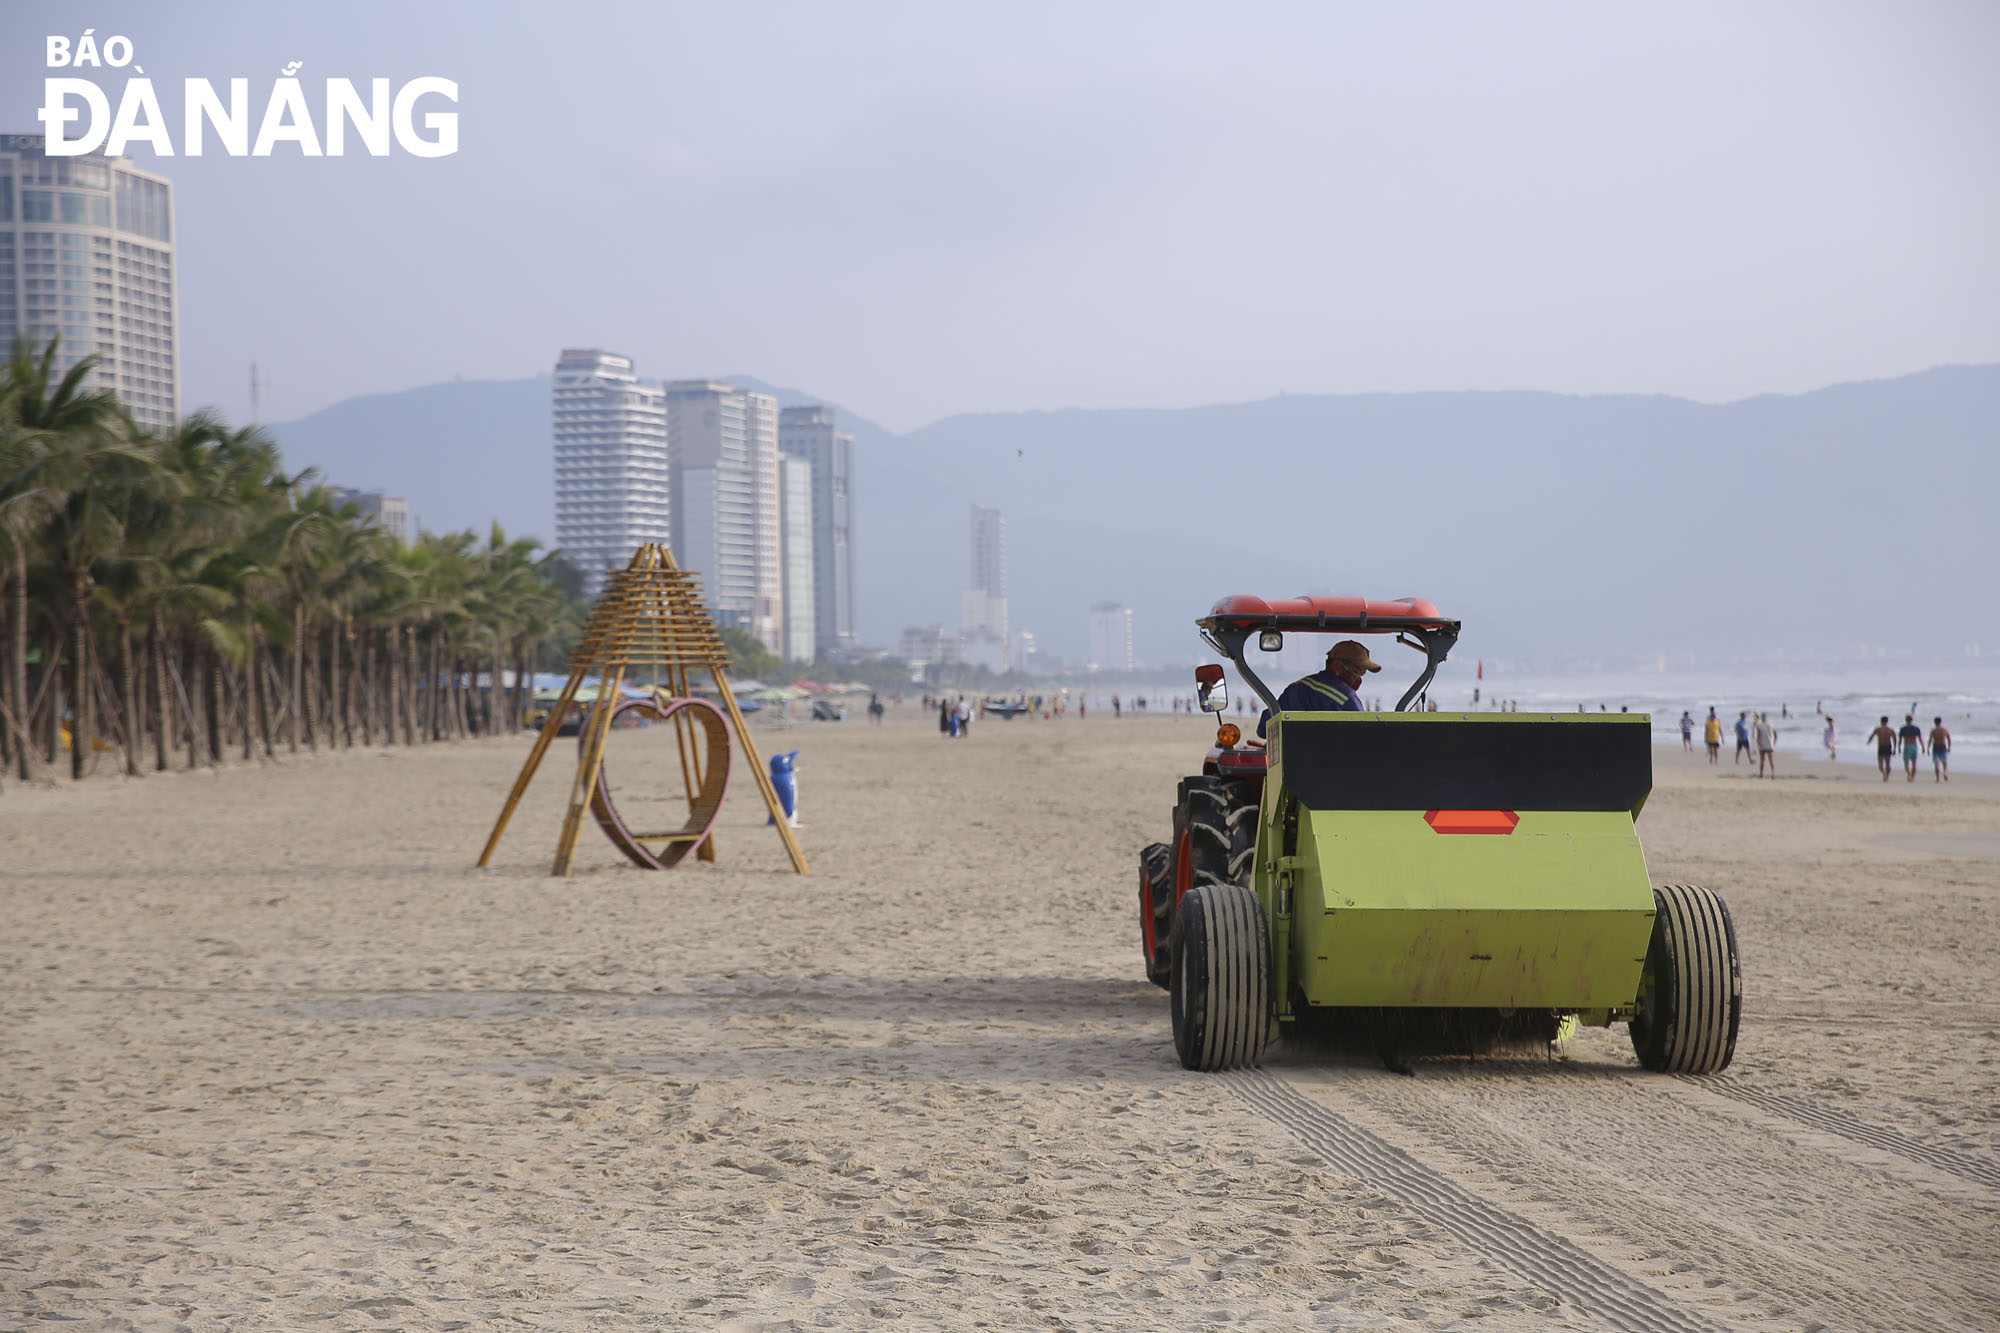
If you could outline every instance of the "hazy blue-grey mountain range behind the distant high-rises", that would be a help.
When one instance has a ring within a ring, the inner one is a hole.
[[[780,402],[824,402],[750,376]],[[838,406],[838,404],[836,404]],[[950,416],[856,438],[860,632],[954,626],[968,504],[1008,520],[1016,628],[1066,658],[1092,602],[1192,660],[1236,590],[1422,594],[1462,652],[1758,660],[2000,654],[2000,366],[1810,394],[1428,392]],[[552,540],[548,378],[350,398],[270,428],[288,466],[432,530]]]

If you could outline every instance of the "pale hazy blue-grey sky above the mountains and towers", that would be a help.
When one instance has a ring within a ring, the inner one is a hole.
[[[184,404],[238,418],[250,360],[284,420],[576,344],[898,430],[2000,360],[1990,2],[16,0],[0,128],[40,128],[42,38],[86,26],[132,38],[176,142],[184,76],[258,112],[290,60],[314,102],[460,84],[450,158],[156,164]]]

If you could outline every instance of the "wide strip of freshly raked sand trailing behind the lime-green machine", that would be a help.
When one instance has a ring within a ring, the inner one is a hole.
[[[2000,1209],[1984,1189],[1792,1139],[1778,1125],[1796,1121],[1702,1097],[1702,1081],[1546,1061],[1422,1075],[1354,1071],[1312,1091],[1544,1229],[1602,1237],[1630,1255],[1618,1263],[1672,1273],[1660,1285],[1692,1287],[1718,1319],[1996,1327],[2000,1275],[1984,1255]]]

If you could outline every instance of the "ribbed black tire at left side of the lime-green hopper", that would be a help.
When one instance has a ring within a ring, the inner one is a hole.
[[[1246,1069],[1270,1037],[1270,923],[1240,885],[1202,885],[1174,917],[1174,1051],[1184,1069]]]

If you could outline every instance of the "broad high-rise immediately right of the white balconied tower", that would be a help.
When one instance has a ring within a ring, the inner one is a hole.
[[[716,624],[784,652],[778,400],[714,380],[666,386],[674,558],[700,574]]]

